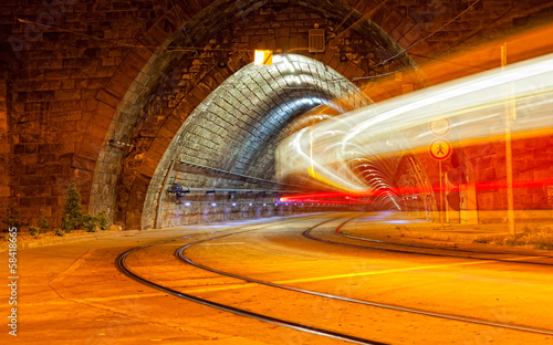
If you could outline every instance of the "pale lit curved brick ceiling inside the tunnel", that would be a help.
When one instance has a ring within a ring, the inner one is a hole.
[[[143,228],[153,226],[152,206],[173,160],[274,180],[274,148],[284,129],[293,130],[289,125],[294,119],[319,105],[344,112],[341,104],[355,108],[369,102],[343,75],[311,58],[280,54],[272,65],[250,63],[210,93],[173,138],[149,184]],[[189,188],[255,188],[248,180],[209,174],[184,172],[179,182]]]

